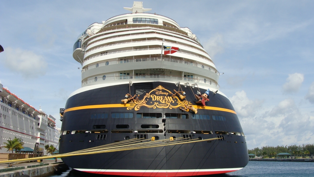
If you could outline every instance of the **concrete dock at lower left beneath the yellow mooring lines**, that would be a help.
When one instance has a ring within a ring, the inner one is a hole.
[[[0,177],[14,177],[27,174],[30,177],[44,177],[61,169],[66,169],[67,166],[60,160],[43,160],[42,162],[24,162],[15,164],[13,167],[8,167],[8,164],[0,164]],[[59,171],[58,171],[59,170]]]

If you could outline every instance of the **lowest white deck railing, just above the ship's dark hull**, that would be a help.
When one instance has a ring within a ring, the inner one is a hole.
[[[168,76],[168,75],[159,75],[159,74],[153,74],[153,75],[123,75],[123,76],[109,76],[109,77],[100,77],[100,78],[93,78],[86,80],[82,82],[82,87],[86,86],[87,84],[90,83],[95,83],[98,82],[99,84],[101,83],[106,83],[112,80],[123,80],[123,79],[171,79],[171,80],[178,80],[178,81],[184,81],[184,82],[194,82],[194,83],[204,83],[208,85],[214,86],[216,89],[219,89],[218,83],[208,81],[206,79],[197,79],[197,78],[191,78],[191,77],[181,77],[181,76]]]

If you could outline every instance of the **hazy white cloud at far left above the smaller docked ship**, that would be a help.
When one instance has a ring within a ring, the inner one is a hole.
[[[45,74],[46,61],[41,55],[22,49],[5,49],[4,66],[25,78],[38,77]]]

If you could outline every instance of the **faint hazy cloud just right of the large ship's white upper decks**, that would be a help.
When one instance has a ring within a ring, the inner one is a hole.
[[[208,39],[208,41],[204,44],[204,48],[211,57],[214,57],[214,55],[220,54],[224,51],[223,43],[224,41],[222,35],[217,33],[214,37]]]

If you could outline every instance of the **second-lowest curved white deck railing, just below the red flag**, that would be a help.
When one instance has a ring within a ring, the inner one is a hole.
[[[93,68],[98,68],[99,66],[108,66],[108,65],[115,65],[115,64],[122,64],[122,63],[133,63],[133,62],[142,62],[142,61],[169,61],[169,62],[174,62],[174,63],[180,63],[180,64],[185,64],[185,65],[191,65],[191,66],[196,66],[199,68],[203,68],[209,71],[212,71],[214,73],[216,73],[218,76],[220,75],[219,72],[210,66],[207,65],[203,65],[200,63],[196,63],[196,62],[192,62],[192,61],[185,61],[185,60],[178,60],[178,59],[173,59],[173,58],[165,58],[163,57],[161,59],[161,57],[154,57],[154,58],[138,58],[138,59],[123,59],[123,60],[111,60],[111,61],[104,61],[101,63],[96,63],[94,65],[90,65],[88,67],[85,67],[82,69],[82,73],[93,69]]]

